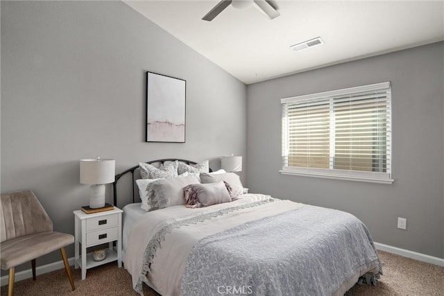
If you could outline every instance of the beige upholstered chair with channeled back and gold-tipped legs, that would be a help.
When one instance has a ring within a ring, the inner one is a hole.
[[[15,266],[31,261],[35,280],[35,259],[55,250],[62,253],[63,263],[75,290],[65,246],[74,236],[53,232],[53,223],[32,191],[1,194],[0,261],[1,269],[9,269],[8,295],[14,294]]]

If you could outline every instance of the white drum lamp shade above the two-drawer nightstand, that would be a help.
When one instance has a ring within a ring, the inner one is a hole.
[[[108,184],[114,182],[114,159],[81,159],[80,183],[81,184]]]

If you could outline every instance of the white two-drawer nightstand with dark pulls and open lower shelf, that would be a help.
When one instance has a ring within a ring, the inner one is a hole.
[[[82,268],[82,279],[86,277],[86,270],[108,262],[116,261],[122,266],[121,233],[122,210],[114,207],[111,211],[101,211],[94,214],[85,214],[83,211],[74,211],[75,227],[75,263],[74,267]],[[117,251],[112,247],[112,242],[117,241]],[[107,256],[102,261],[94,261],[92,253],[87,254],[87,247],[109,243]],[[81,254],[79,256],[79,245]]]

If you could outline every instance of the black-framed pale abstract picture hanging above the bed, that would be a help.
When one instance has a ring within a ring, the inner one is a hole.
[[[185,143],[187,81],[146,72],[146,142]]]

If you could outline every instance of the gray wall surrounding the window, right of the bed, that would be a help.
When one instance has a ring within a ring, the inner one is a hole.
[[[392,82],[391,185],[281,175],[280,98]],[[378,243],[444,258],[443,42],[268,80],[247,89],[251,191],[349,211]],[[398,229],[407,218],[407,231]]]

